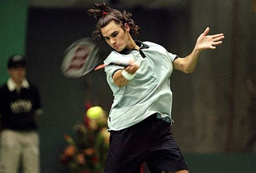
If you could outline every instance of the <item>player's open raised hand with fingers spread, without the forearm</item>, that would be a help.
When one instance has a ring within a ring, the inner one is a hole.
[[[222,39],[224,39],[224,34],[214,34],[207,35],[210,32],[210,28],[207,27],[206,30],[198,37],[196,48],[199,51],[203,51],[204,49],[215,49],[217,45],[222,44]]]

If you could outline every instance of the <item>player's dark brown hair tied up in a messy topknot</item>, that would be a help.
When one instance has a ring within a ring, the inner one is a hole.
[[[93,38],[103,38],[100,28],[105,27],[111,21],[120,24],[123,28],[124,24],[127,23],[130,26],[130,34],[133,36],[138,35],[139,26],[131,19],[132,14],[130,12],[126,12],[125,10],[121,12],[116,9],[111,9],[105,3],[95,3],[94,6],[96,9],[90,9],[87,11],[91,17],[97,20],[96,31],[92,32]]]

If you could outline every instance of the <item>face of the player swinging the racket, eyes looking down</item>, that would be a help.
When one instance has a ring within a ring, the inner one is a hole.
[[[133,43],[129,33],[130,27],[127,24],[123,28],[120,24],[112,20],[100,30],[107,44],[118,52],[123,51],[123,49],[128,48]]]

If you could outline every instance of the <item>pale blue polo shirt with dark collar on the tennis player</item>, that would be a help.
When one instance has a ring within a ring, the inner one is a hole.
[[[136,76],[122,88],[113,83],[112,75],[123,67],[105,67],[107,82],[114,96],[107,121],[109,130],[118,131],[130,127],[154,113],[166,121],[172,121],[170,76],[173,71],[172,62],[177,55],[153,42],[141,43],[143,47],[140,51],[132,50],[127,54],[112,51],[104,61],[105,64],[127,63],[133,59],[139,64]]]

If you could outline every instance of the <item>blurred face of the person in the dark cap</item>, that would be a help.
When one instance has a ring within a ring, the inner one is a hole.
[[[12,80],[14,80],[17,84],[22,84],[23,79],[26,75],[26,69],[23,67],[17,68],[10,68],[8,69],[9,75],[11,76]]]

